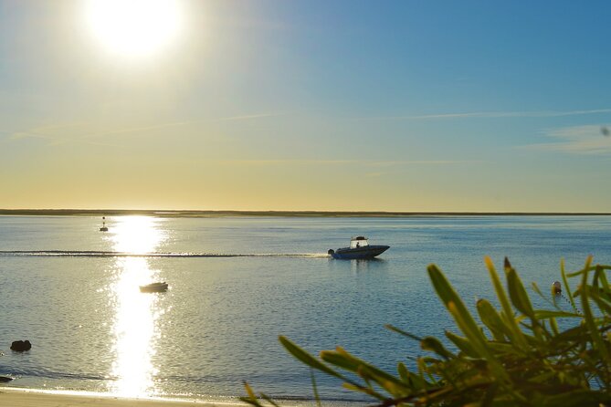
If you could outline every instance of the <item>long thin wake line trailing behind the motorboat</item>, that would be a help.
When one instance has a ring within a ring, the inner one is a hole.
[[[0,256],[20,257],[298,257],[298,258],[328,258],[326,253],[129,253],[89,250],[0,250]]]

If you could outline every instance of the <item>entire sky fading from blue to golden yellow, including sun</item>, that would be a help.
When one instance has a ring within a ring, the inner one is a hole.
[[[611,4],[532,3],[0,0],[0,207],[611,212]]]

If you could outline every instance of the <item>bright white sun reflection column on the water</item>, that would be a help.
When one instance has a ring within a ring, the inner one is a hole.
[[[165,239],[159,220],[146,216],[125,216],[113,223],[114,250],[133,254],[153,252]],[[115,308],[112,333],[114,361],[111,367],[111,391],[125,397],[153,395],[157,369],[153,363],[161,332],[158,319],[163,315],[162,297],[141,293],[139,286],[155,280],[159,274],[143,257],[117,259],[111,283]]]

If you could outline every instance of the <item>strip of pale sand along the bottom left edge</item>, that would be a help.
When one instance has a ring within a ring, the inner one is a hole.
[[[128,399],[88,392],[32,391],[26,389],[0,389],[0,406],[3,407],[198,407],[246,405],[240,402],[204,402],[176,399]]]

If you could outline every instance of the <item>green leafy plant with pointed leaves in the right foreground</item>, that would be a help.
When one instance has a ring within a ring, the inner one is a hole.
[[[479,299],[477,310],[483,326],[441,270],[428,266],[433,287],[461,334],[446,332],[457,348],[452,351],[437,338],[418,338],[386,326],[418,340],[423,350],[431,352],[416,359],[416,371],[399,362],[397,373],[389,373],[342,348],[323,350],[316,358],[285,337],[279,340],[301,362],[342,380],[345,388],[366,394],[379,406],[611,405],[611,287],[606,278],[611,266],[591,266],[591,262],[588,257],[582,270],[568,275],[561,263],[565,299],[572,308],[565,311],[556,304],[562,295],[554,293],[548,301],[550,309],[532,308],[510,262],[505,259],[506,290],[487,257],[500,309]],[[580,278],[574,292],[569,277]],[[532,287],[543,296],[534,283]],[[571,328],[559,329],[560,319]],[[320,402],[313,375],[312,383]],[[248,397],[242,401],[261,406],[263,399],[276,405],[265,394],[258,398],[248,384],[246,389]]]

